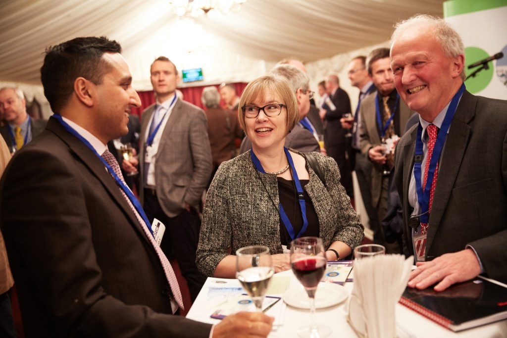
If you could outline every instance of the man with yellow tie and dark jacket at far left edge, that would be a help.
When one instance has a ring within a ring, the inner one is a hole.
[[[46,120],[32,119],[26,112],[26,101],[21,89],[0,89],[0,110],[7,124],[0,127],[9,151],[14,153],[46,127]]]

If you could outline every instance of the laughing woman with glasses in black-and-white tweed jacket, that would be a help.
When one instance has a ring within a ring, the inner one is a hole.
[[[312,153],[324,185],[301,153],[283,146],[299,121],[289,83],[273,74],[253,80],[239,107],[252,149],[222,163],[208,190],[197,248],[201,273],[235,278],[233,254],[248,245],[268,246],[275,271],[288,270],[289,244],[303,236],[322,238],[328,260],[348,256],[363,240],[364,228],[340,184],[336,162]]]

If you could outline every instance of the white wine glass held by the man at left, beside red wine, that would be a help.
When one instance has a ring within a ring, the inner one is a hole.
[[[267,246],[252,245],[236,250],[236,278],[258,312],[262,312],[264,296],[274,272]]]

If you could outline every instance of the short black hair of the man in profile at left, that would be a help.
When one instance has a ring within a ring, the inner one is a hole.
[[[51,109],[58,112],[65,106],[77,78],[101,84],[104,74],[112,69],[102,55],[121,51],[119,43],[105,36],[76,37],[48,47],[41,67],[41,82]]]

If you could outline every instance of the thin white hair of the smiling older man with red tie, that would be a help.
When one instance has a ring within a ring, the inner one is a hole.
[[[458,55],[465,55],[465,48],[463,41],[458,32],[444,19],[431,16],[427,14],[417,14],[413,17],[400,21],[394,25],[394,32],[391,35],[391,41],[389,46],[392,48],[394,42],[400,37],[400,35],[407,29],[416,26],[429,26],[433,29],[433,36],[444,50],[444,54],[447,57],[457,57]],[[459,74],[461,79],[466,79],[465,67]]]

